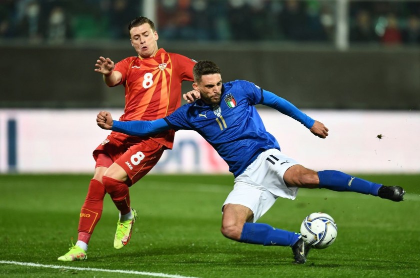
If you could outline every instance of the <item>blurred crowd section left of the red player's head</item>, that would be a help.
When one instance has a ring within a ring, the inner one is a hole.
[[[128,38],[138,0],[0,0],[0,37],[62,43],[69,39]]]

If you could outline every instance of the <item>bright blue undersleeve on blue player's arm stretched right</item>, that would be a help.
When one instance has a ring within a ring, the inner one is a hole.
[[[311,128],[315,120],[307,116],[305,113],[297,109],[296,106],[269,91],[262,90],[261,104],[276,109],[277,111],[287,115],[296,121],[299,121],[306,128]]]

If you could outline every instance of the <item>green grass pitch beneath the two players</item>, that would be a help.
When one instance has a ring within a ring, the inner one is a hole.
[[[121,250],[113,248],[117,211],[106,196],[88,260],[70,263],[57,257],[77,238],[91,176],[0,175],[0,277],[420,277],[420,175],[359,177],[403,186],[405,201],[303,189],[294,201],[278,199],[258,221],[298,231],[312,212],[335,219],[334,244],[311,250],[305,265],[293,265],[288,247],[242,244],[221,235],[220,206],[232,188],[230,175],[144,177],[130,189],[139,215]],[[104,272],[113,270],[132,273]]]

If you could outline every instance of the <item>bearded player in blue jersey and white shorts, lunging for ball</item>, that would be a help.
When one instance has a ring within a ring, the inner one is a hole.
[[[221,233],[226,238],[264,246],[289,246],[294,263],[304,264],[310,246],[306,246],[299,233],[256,223],[278,197],[293,200],[298,188],[326,188],[402,201],[405,191],[399,186],[383,186],[339,171],[315,172],[282,153],[276,139],[265,130],[255,104],[267,105],[292,117],[320,138],[328,135],[321,122],[287,100],[248,81],[222,83],[220,69],[208,60],[197,62],[193,75],[192,86],[199,96],[189,92],[186,98],[198,99],[167,117],[123,122],[113,121],[109,112],[101,111],[96,122],[103,129],[135,136],[168,129],[197,131],[226,161],[235,177],[234,188],[222,207]]]

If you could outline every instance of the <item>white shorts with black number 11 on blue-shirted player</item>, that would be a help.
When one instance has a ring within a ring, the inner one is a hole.
[[[233,190],[224,201],[237,204],[253,212],[253,222],[263,216],[278,197],[294,200],[297,187],[287,187],[283,175],[288,168],[298,164],[277,149],[262,152],[234,180]]]

